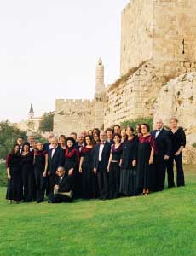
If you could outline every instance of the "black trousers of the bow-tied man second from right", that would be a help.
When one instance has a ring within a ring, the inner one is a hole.
[[[162,191],[164,190],[166,164],[168,160],[164,160],[164,156],[155,155],[153,161],[155,169],[154,189],[155,191]]]

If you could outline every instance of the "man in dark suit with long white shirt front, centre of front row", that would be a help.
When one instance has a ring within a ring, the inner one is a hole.
[[[107,142],[106,132],[100,132],[100,143],[95,146],[94,172],[97,174],[100,199],[107,199],[109,194],[107,165],[110,157],[111,144]]]

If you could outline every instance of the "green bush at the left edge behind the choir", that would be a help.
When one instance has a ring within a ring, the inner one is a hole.
[[[17,137],[24,137],[26,132],[9,125],[8,121],[0,122],[0,159],[4,159],[16,143]]]

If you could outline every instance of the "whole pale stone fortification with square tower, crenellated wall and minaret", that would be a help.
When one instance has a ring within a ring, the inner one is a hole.
[[[131,0],[122,12],[121,77],[105,88],[103,65],[99,60],[93,102],[88,107],[84,107],[84,102],[80,102],[80,106],[72,102],[72,108],[68,108],[68,102],[57,100],[55,132],[68,131],[69,127],[79,131],[80,127],[100,127],[103,123],[107,127],[124,120],[152,117],[153,105],[163,86],[171,79],[196,71],[195,13],[195,0]],[[168,96],[161,97],[165,106],[162,104],[159,108],[159,116],[164,117]],[[185,106],[175,105],[175,101],[176,97],[170,105],[179,109],[173,113],[178,118]],[[191,112],[193,105],[186,106]],[[154,109],[156,112],[157,107]],[[185,113],[187,115],[187,111]],[[85,121],[84,116],[88,117]],[[192,127],[192,123],[187,116],[185,127]]]

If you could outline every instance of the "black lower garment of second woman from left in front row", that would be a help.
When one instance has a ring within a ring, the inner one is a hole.
[[[24,201],[32,201],[33,192],[35,191],[34,183],[34,172],[33,169],[22,170],[22,183],[23,183],[23,199]]]

